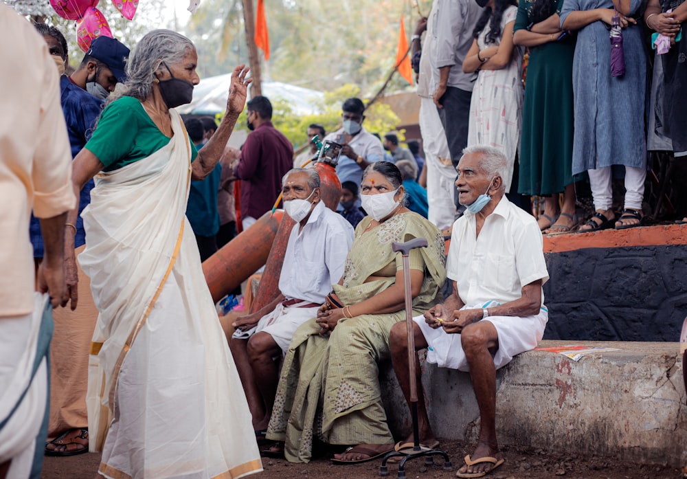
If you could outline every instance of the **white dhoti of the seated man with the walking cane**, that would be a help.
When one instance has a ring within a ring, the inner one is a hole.
[[[462,307],[461,309],[482,309],[482,305]],[[515,355],[534,349],[544,335],[548,321],[548,310],[542,307],[534,316],[489,316],[482,321],[491,322],[499,336],[499,348],[494,355],[497,369],[506,366]],[[468,361],[460,343],[460,334],[448,334],[443,328],[431,328],[424,316],[413,320],[420,326],[429,348],[427,361],[440,368],[458,369],[468,372]]]

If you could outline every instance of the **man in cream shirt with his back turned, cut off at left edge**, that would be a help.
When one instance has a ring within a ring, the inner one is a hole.
[[[0,53],[0,478],[25,479],[41,476],[52,336],[52,316],[43,314],[47,295],[34,292],[29,217],[33,209],[41,219],[45,243],[38,289],[56,307],[67,301],[65,221],[76,197],[59,74],[47,45],[5,5],[0,41],[12,45]]]

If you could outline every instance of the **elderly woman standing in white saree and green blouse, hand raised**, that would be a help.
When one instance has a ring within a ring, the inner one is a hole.
[[[262,470],[250,413],[184,212],[191,179],[221,157],[243,110],[247,69],[198,153],[179,113],[198,56],[169,30],[142,38],[128,80],[74,159],[95,176],[79,261],[98,307],[89,365],[90,450],[106,478],[238,478]],[[71,223],[76,211],[71,212]]]

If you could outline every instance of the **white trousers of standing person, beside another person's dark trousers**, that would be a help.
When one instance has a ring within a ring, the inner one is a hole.
[[[439,158],[451,159],[444,127],[441,125],[436,105],[431,98],[420,97],[420,134],[423,137],[425,164],[427,164],[428,219],[439,229],[453,225],[455,204],[455,169],[443,164]]]

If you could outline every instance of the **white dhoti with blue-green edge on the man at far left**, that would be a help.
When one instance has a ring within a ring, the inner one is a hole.
[[[0,318],[0,464],[12,461],[7,479],[41,475],[53,327],[47,300],[35,293],[32,313]]]

